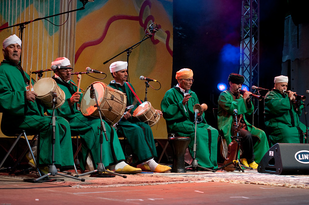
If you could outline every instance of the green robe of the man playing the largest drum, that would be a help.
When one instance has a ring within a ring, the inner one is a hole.
[[[60,80],[59,78],[53,77],[56,80],[58,86],[65,93],[65,102],[61,107],[55,110],[56,116],[62,116],[69,121],[70,129],[72,133],[76,133],[82,138],[82,160],[81,160],[81,169],[85,170],[86,160],[88,153],[90,153],[93,160],[93,165],[97,165],[100,162],[100,130],[98,127],[101,127],[101,119],[91,116],[84,116],[81,111],[78,110],[77,105],[81,104],[83,94],[81,94],[80,101],[74,103],[73,106],[69,105],[68,101],[71,96],[77,91],[76,84],[70,80],[69,83]],[[81,90],[79,91],[81,92]],[[103,134],[103,143],[102,143],[102,162],[103,165],[115,165],[120,161],[125,160],[125,155],[121,148],[118,136],[116,131],[111,128],[107,122],[104,121],[106,128],[106,135],[108,141],[105,139],[104,132]],[[112,143],[111,143],[112,142]]]

